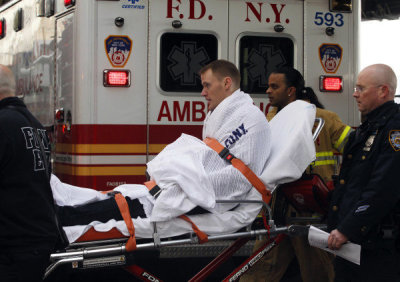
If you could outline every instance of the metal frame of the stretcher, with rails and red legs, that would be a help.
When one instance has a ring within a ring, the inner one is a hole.
[[[317,127],[313,133],[314,141],[321,132],[325,121],[322,118],[316,118]],[[217,200],[217,203],[259,203],[264,207],[263,211],[266,213],[268,220],[268,228],[260,228],[251,230],[248,226],[246,231],[236,232],[232,234],[213,235],[208,237],[208,242],[219,240],[234,240],[232,245],[226,248],[220,255],[218,255],[212,262],[205,266],[189,281],[203,281],[217,268],[219,268],[227,259],[232,257],[243,245],[249,240],[258,236],[267,236],[269,240],[256,252],[254,252],[248,259],[246,259],[239,267],[237,267],[231,274],[229,274],[223,281],[237,281],[240,276],[247,272],[254,266],[263,256],[265,256],[272,248],[280,243],[285,236],[305,236],[308,234],[309,226],[305,225],[290,225],[285,227],[276,227],[271,216],[271,208],[263,201],[249,201],[249,200]],[[324,225],[320,225],[324,229]],[[195,233],[189,234],[187,239],[160,239],[157,234],[157,225],[154,223],[153,241],[147,243],[138,243],[136,250],[151,250],[160,249],[168,246],[179,246],[183,244],[198,245],[199,239]],[[59,266],[71,264],[74,269],[78,268],[103,268],[103,267],[124,267],[128,272],[143,281],[162,281],[155,275],[150,274],[137,265],[127,265],[125,254],[128,252],[125,248],[127,238],[98,240],[90,242],[78,242],[70,244],[66,250],[51,254],[50,265],[45,271],[44,278],[47,278]],[[204,243],[205,245],[207,243]],[[135,250],[135,251],[136,251]],[[134,253],[135,251],[131,252]]]

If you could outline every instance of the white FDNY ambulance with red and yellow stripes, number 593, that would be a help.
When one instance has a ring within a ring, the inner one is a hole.
[[[182,133],[201,138],[198,71],[215,59],[238,66],[265,113],[268,74],[290,65],[357,126],[360,10],[352,0],[3,0],[0,63],[49,131],[53,172],[110,190],[143,183],[146,163]]]

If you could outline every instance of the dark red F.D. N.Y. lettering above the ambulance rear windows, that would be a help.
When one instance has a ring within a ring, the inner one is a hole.
[[[185,10],[185,7],[188,9]],[[184,6],[184,7],[182,7]],[[243,19],[245,22],[266,22],[266,23],[289,23],[290,20],[282,19],[282,12],[286,4],[272,4],[266,2],[243,2]],[[208,9],[205,0],[168,0],[167,19],[187,18],[189,20],[202,20],[207,18],[213,20],[214,16],[207,13]]]

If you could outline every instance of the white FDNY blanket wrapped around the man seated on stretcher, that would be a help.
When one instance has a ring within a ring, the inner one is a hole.
[[[260,175],[270,154],[267,119],[248,94],[237,90],[209,113],[203,138],[212,137]],[[248,180],[201,140],[183,134],[147,164],[162,192],[154,203],[151,221],[166,221],[196,206],[223,213],[235,204],[216,199],[243,199]]]

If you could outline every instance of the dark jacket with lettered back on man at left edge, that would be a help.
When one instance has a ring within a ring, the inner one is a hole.
[[[53,195],[36,136],[50,151],[46,131],[24,103],[16,97],[0,100],[0,254],[50,250],[58,238]]]

